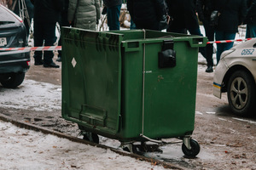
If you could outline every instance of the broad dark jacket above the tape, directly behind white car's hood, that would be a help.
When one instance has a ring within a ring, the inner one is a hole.
[[[212,1],[213,8],[220,11],[217,31],[227,31],[230,33],[238,32],[240,26],[247,15],[246,0],[224,0]]]

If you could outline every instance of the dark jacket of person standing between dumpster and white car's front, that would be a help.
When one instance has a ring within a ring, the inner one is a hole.
[[[199,20],[210,20],[213,11],[212,0],[196,0],[196,11]]]

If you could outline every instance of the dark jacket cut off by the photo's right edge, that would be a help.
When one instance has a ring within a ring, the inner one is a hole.
[[[256,0],[247,0],[247,17],[244,23],[256,25]]]

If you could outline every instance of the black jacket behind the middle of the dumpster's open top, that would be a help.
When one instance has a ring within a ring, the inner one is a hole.
[[[167,12],[164,0],[128,0],[127,8],[136,25],[159,23]]]

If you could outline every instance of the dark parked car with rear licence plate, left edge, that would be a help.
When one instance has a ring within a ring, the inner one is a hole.
[[[0,48],[27,46],[26,27],[18,15],[0,4]],[[30,51],[0,50],[0,82],[4,88],[16,88],[30,67]]]

